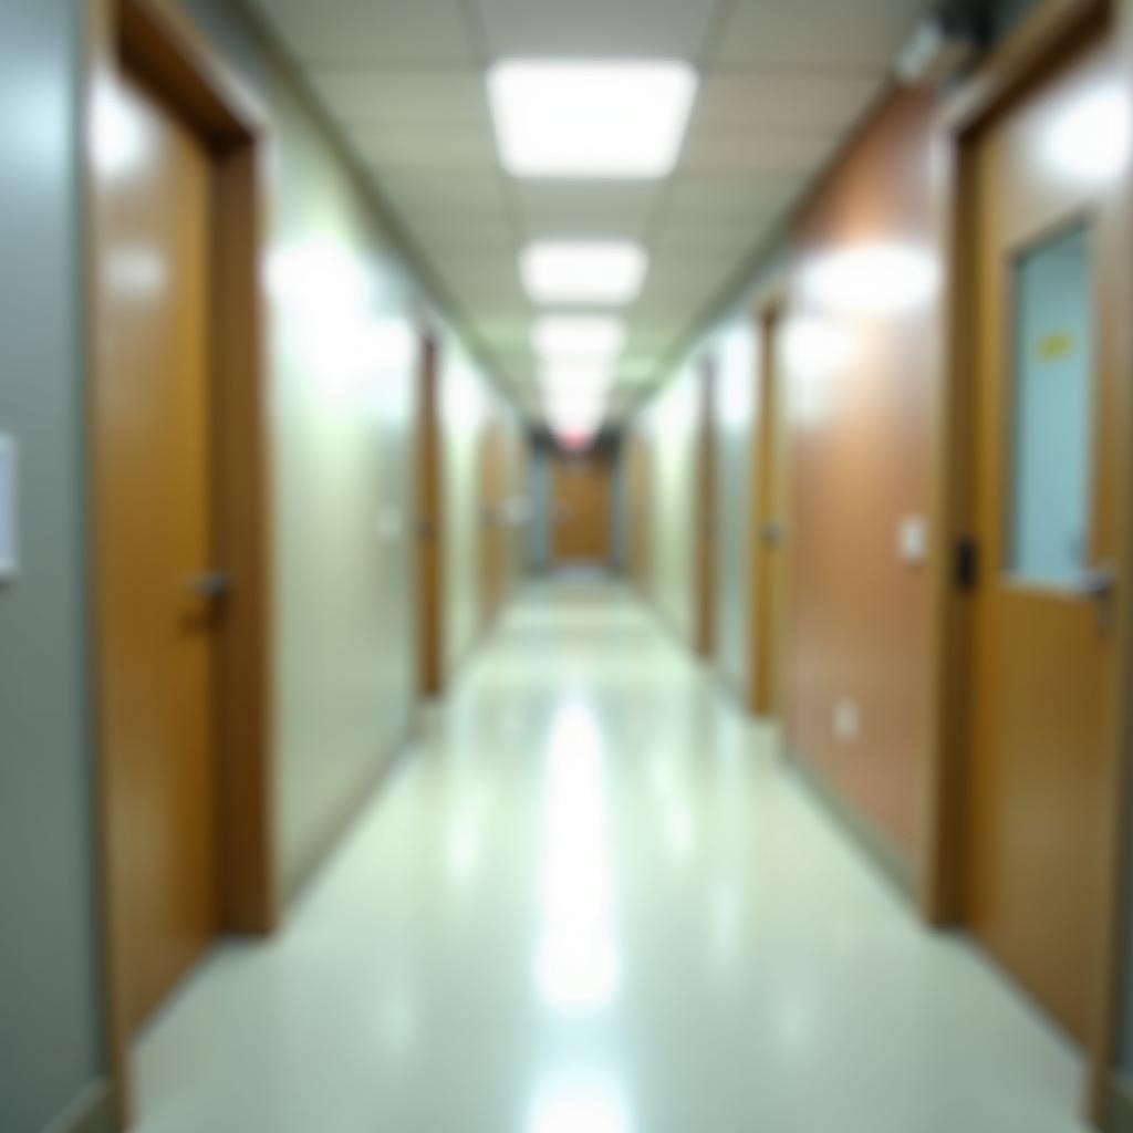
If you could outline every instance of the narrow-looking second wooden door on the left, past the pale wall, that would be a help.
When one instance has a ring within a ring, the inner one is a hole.
[[[421,353],[417,399],[417,684],[421,696],[444,687],[440,348],[432,338]]]

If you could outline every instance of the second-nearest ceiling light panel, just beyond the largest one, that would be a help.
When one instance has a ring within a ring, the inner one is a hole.
[[[624,241],[543,240],[520,256],[528,297],[536,303],[630,303],[648,258]]]

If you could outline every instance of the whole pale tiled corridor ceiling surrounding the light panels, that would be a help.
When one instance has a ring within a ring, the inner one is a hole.
[[[533,411],[519,250],[640,240],[612,412],[637,400],[884,88],[927,0],[253,0]],[[700,71],[664,181],[516,180],[485,73],[512,57],[671,58]]]

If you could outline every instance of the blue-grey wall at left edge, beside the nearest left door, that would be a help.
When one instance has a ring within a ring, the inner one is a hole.
[[[87,736],[77,0],[0,0],[0,432],[23,571],[0,588],[0,1130],[101,1076]]]

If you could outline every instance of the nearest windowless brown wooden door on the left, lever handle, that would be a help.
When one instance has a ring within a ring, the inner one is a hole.
[[[113,111],[122,145],[108,155],[96,281],[99,616],[114,923],[136,1026],[218,920],[218,611],[197,581],[214,565],[211,171],[146,91],[121,80]]]

